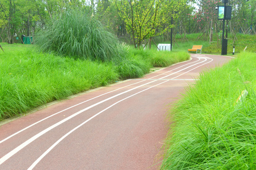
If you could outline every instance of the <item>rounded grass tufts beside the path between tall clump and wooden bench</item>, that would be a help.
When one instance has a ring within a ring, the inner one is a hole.
[[[142,77],[152,67],[168,67],[174,63],[190,59],[186,52],[136,50],[126,47],[126,55],[116,65],[122,79]]]

